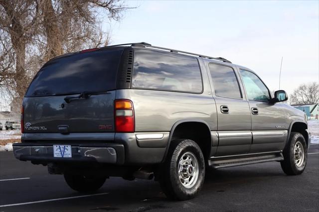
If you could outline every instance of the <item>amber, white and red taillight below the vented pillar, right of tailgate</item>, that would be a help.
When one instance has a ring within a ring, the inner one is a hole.
[[[134,107],[130,100],[114,101],[115,132],[134,132]]]

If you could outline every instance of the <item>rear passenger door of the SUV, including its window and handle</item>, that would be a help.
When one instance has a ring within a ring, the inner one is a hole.
[[[219,144],[216,156],[249,152],[251,113],[232,66],[209,63],[210,81],[217,109]]]

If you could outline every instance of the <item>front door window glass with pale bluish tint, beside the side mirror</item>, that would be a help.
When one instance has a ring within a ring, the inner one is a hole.
[[[252,72],[240,69],[248,100],[269,101],[269,91],[264,83]]]

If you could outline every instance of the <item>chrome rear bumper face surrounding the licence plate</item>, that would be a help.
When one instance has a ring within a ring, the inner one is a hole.
[[[72,157],[53,157],[53,143],[14,143],[15,158],[33,163],[48,162],[98,162],[124,164],[124,145],[72,144]]]

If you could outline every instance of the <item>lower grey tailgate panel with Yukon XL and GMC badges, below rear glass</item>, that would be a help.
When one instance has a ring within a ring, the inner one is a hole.
[[[25,98],[24,132],[114,132],[115,91],[68,104],[64,98]]]

